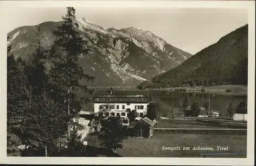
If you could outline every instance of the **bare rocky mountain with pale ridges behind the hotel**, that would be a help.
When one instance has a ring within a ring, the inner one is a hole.
[[[96,25],[86,18],[77,19],[77,31],[88,42],[88,56],[79,57],[84,73],[96,79],[89,86],[136,86],[154,76],[177,67],[192,55],[170,45],[149,31],[128,27],[116,30]],[[53,30],[60,22],[43,22],[22,26],[8,33],[8,45],[15,57],[28,57],[38,46],[53,44]],[[40,29],[40,31],[38,31]]]

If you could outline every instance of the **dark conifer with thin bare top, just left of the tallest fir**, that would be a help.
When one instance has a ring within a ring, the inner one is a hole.
[[[40,34],[40,27],[38,35]],[[65,133],[67,114],[63,105],[51,98],[51,86],[45,67],[47,52],[41,47],[38,36],[38,47],[31,56],[27,67],[28,82],[33,95],[33,109],[27,134],[29,144],[39,151],[44,149],[45,156],[51,154],[48,147],[56,147],[55,142]]]

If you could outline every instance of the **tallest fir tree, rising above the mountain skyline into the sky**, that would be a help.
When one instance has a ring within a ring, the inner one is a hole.
[[[61,25],[54,31],[56,37],[50,50],[52,66],[50,69],[51,84],[54,86],[52,94],[59,102],[66,105],[66,112],[69,115],[67,137],[69,138],[70,123],[77,116],[81,104],[88,101],[81,98],[77,91],[83,90],[90,93],[87,86],[81,86],[80,80],[93,80],[94,77],[84,74],[82,67],[78,64],[81,54],[87,54],[86,42],[82,39],[81,33],[77,31],[78,24],[75,21],[75,9],[67,8],[67,15],[62,16]],[[78,125],[73,123],[73,125]]]

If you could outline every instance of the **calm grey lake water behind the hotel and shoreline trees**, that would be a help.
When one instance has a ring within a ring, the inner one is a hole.
[[[96,88],[97,90],[109,90],[109,88]],[[137,90],[136,88],[114,88],[116,90]],[[205,102],[209,101],[208,93],[201,92],[173,92],[164,90],[153,90],[152,100],[153,102],[159,101],[160,108],[162,110],[162,117],[172,116],[172,104],[182,102],[187,97],[188,103],[198,102],[200,106],[203,106]],[[241,94],[210,94],[210,109],[220,112],[220,116],[226,116],[226,105],[232,103],[233,108],[237,108],[241,101],[247,102],[247,95]],[[93,104],[88,104],[87,108],[93,110]],[[174,115],[178,116],[178,108],[174,106]],[[184,112],[180,111],[180,115],[184,115]]]

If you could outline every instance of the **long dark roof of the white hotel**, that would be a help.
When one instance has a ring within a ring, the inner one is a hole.
[[[112,94],[110,94],[110,90],[99,90],[96,91],[94,98],[147,98],[147,102],[151,101],[151,92],[143,91],[143,90],[113,90]],[[134,102],[134,101],[132,101]]]

